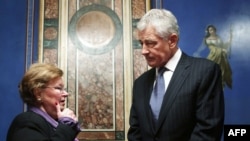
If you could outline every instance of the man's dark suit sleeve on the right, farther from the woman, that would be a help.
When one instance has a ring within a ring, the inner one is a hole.
[[[221,70],[217,64],[206,69],[197,93],[197,124],[190,141],[220,141],[224,124]]]

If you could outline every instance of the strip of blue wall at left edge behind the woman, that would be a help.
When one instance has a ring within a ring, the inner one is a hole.
[[[24,73],[26,0],[0,1],[0,140],[14,116],[23,111],[17,85]]]

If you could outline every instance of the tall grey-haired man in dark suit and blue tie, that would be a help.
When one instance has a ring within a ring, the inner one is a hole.
[[[219,141],[224,97],[218,64],[181,51],[179,26],[168,10],[146,13],[137,25],[137,38],[152,68],[134,82],[128,140]],[[160,76],[162,67],[166,71]]]

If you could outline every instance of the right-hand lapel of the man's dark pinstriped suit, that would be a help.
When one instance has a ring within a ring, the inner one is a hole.
[[[178,91],[181,90],[182,84],[189,74],[189,65],[190,63],[188,62],[187,56],[183,53],[165,93],[158,119],[158,124],[156,125],[156,132],[166,119],[168,111],[170,110],[176,96],[179,93]]]

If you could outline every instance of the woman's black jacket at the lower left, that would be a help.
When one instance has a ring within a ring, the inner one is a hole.
[[[60,124],[55,129],[42,116],[28,111],[12,122],[7,141],[74,141],[78,131]]]

